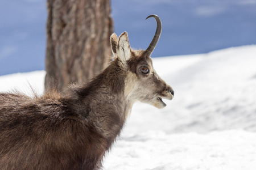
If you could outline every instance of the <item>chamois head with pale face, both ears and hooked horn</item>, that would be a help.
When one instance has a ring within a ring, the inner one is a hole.
[[[163,79],[160,78],[152,65],[151,53],[159,40],[162,32],[162,23],[157,15],[155,18],[157,28],[155,36],[146,50],[133,50],[130,48],[127,32],[123,32],[119,39],[115,33],[110,37],[112,52],[126,73],[125,96],[130,101],[139,100],[143,103],[154,105],[156,108],[164,108],[163,99],[171,100],[174,91]]]

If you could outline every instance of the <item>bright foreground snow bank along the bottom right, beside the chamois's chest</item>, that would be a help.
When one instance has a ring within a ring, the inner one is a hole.
[[[147,131],[117,142],[105,169],[255,169],[256,135],[243,130],[209,134]]]

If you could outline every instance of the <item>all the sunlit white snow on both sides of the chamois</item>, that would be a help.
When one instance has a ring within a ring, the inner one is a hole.
[[[136,103],[104,170],[255,170],[256,45],[153,58],[175,91],[167,107]],[[43,92],[44,71],[0,76],[0,91]]]

